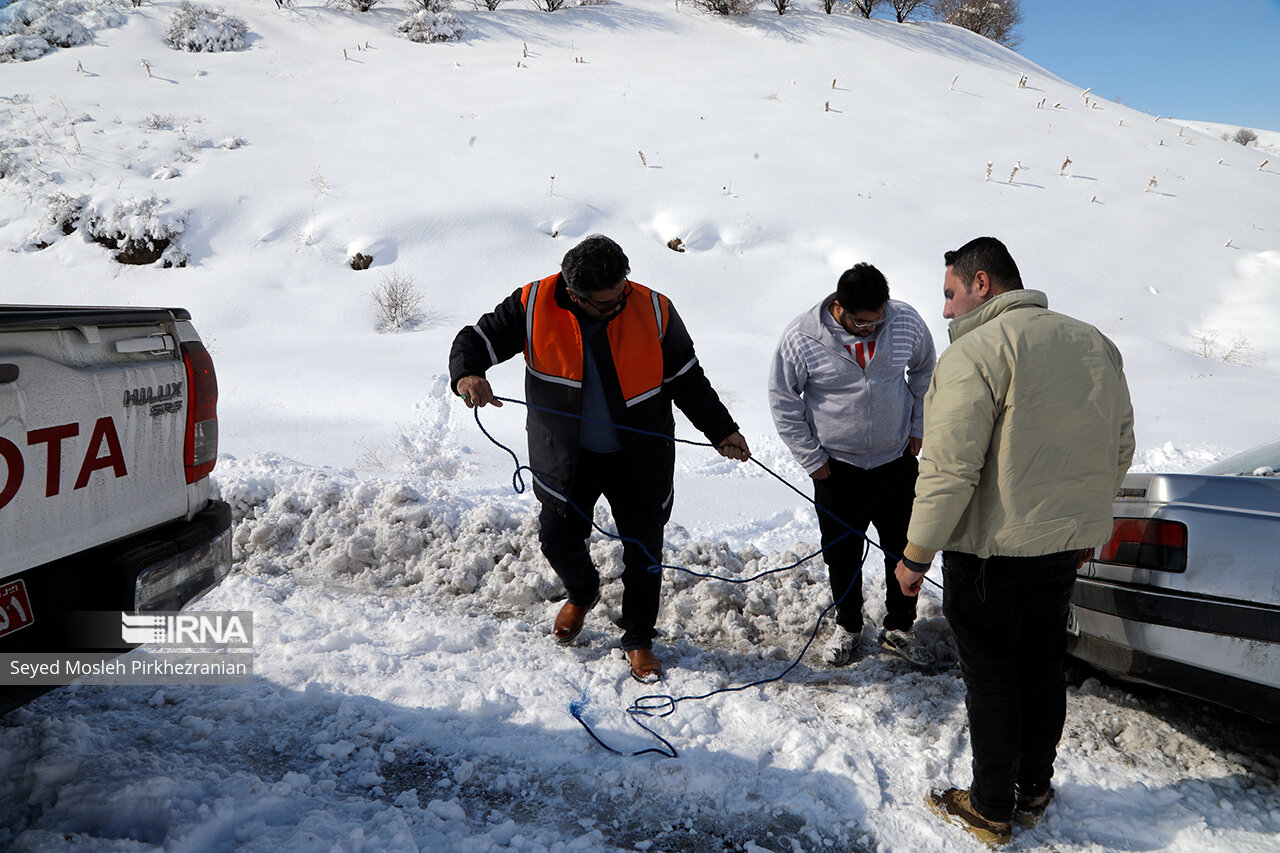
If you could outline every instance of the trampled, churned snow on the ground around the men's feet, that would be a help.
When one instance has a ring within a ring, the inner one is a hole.
[[[577,646],[547,637],[552,574],[527,501],[261,460],[220,479],[238,571],[204,606],[255,611],[241,688],[65,688],[5,717],[3,843],[22,850],[979,849],[920,797],[964,779],[964,689],[877,656],[813,651],[783,681],[623,708],[618,584]],[[792,557],[673,537],[669,557],[748,575]],[[607,578],[620,547],[594,546]],[[746,587],[668,573],[657,690],[781,672],[824,603],[819,573]],[[873,584],[882,589],[882,584]],[[869,594],[868,615],[883,615]],[[919,633],[951,658],[936,590]],[[1274,850],[1280,736],[1157,692],[1073,690],[1059,800],[1014,849]],[[753,847],[755,845],[755,847]]]

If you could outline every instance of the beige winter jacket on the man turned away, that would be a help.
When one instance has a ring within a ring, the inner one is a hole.
[[[1050,311],[1038,291],[1001,293],[950,332],[924,397],[905,556],[1034,557],[1106,543],[1134,451],[1119,350]]]

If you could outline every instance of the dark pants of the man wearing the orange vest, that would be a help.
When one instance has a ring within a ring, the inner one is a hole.
[[[600,590],[600,573],[591,562],[586,540],[591,534],[589,519],[602,494],[609,502],[618,535],[623,539],[622,619],[618,620],[622,649],[650,648],[657,634],[654,622],[658,621],[662,573],[658,569],[649,571],[649,567],[662,560],[667,510],[640,498],[641,489],[622,453],[580,451],[573,489],[568,496],[573,506],[543,503],[539,516],[543,555],[559,575],[571,603],[586,607],[595,601]]]

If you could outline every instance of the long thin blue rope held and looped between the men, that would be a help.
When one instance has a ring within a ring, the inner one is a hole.
[[[550,414],[554,414],[554,415],[561,415],[561,416],[564,416],[564,418],[573,418],[576,420],[590,421],[590,423],[595,423],[595,424],[604,424],[604,425],[608,425],[608,426],[613,426],[614,429],[623,429],[623,430],[627,430],[627,432],[631,432],[631,433],[636,433],[636,434],[640,434],[640,435],[649,435],[649,437],[653,437],[653,438],[660,438],[663,441],[668,441],[668,442],[677,443],[677,444],[691,444],[694,447],[713,447],[716,450],[719,450],[719,447],[721,447],[719,444],[716,444],[714,442],[698,442],[698,441],[691,441],[691,439],[687,439],[687,438],[676,438],[675,435],[666,435],[663,433],[655,433],[655,432],[646,430],[646,429],[639,429],[639,428],[635,428],[635,426],[626,426],[626,425],[622,425],[622,424],[614,424],[612,421],[599,420],[599,419],[595,419],[595,418],[590,418],[588,415],[575,415],[575,414],[564,412],[564,411],[561,411],[561,410],[557,410],[557,409],[548,409],[545,406],[538,406],[535,403],[526,402],[524,400],[515,400],[512,397],[498,397],[498,396],[494,396],[494,400],[500,400],[502,402],[516,403],[517,406],[525,406],[525,407],[535,410],[535,411],[545,411],[545,412],[550,412]],[[516,456],[516,452],[513,450],[511,450],[509,447],[507,447],[506,444],[503,444],[502,442],[499,442],[497,438],[493,437],[493,434],[488,429],[485,429],[484,424],[480,421],[480,407],[479,406],[476,406],[472,410],[472,414],[475,415],[476,426],[480,428],[480,432],[484,433],[485,438],[488,438],[495,446],[500,447],[502,450],[507,451],[508,455],[511,455],[512,461],[516,464],[516,470],[512,474],[511,484],[512,484],[512,488],[516,491],[517,494],[524,494],[526,485],[525,485],[525,479],[524,479],[524,476],[522,476],[521,473],[522,471],[529,471],[530,475],[534,479],[538,479],[538,471],[535,471],[534,469],[531,469],[527,465],[522,465],[521,461],[520,461],[520,457]],[[792,492],[795,492],[796,494],[799,494],[800,497],[803,497],[805,501],[808,501],[809,503],[812,503],[814,506],[814,508],[817,508],[819,512],[824,512],[828,516],[831,516],[832,519],[836,519],[836,521],[838,521],[841,525],[844,525],[846,528],[845,533],[840,534],[840,537],[837,537],[836,539],[832,539],[829,543],[827,543],[826,546],[823,546],[818,551],[815,551],[815,552],[813,552],[813,553],[810,553],[810,555],[808,555],[805,557],[801,557],[800,560],[797,560],[797,561],[795,561],[795,562],[792,562],[790,565],[780,566],[780,567],[776,567],[776,569],[768,569],[765,571],[762,571],[762,573],[758,573],[755,575],[751,575],[750,578],[726,578],[726,576],[722,576],[722,575],[714,575],[714,574],[708,574],[708,573],[694,571],[692,569],[689,569],[686,566],[677,566],[677,565],[671,565],[671,564],[663,564],[662,560],[658,558],[658,557],[655,557],[644,543],[639,542],[637,539],[622,537],[622,535],[620,535],[617,533],[612,533],[609,530],[605,530],[604,528],[602,528],[600,525],[598,525],[595,523],[595,519],[591,517],[590,515],[588,515],[588,512],[584,511],[582,507],[577,506],[572,501],[566,501],[568,503],[568,506],[573,507],[573,510],[579,515],[581,515],[584,519],[586,519],[586,521],[591,525],[591,528],[594,528],[595,530],[598,530],[602,535],[605,535],[605,537],[609,537],[611,539],[617,539],[617,540],[625,542],[625,543],[630,542],[630,543],[634,543],[635,546],[637,546],[644,552],[644,555],[652,561],[652,564],[649,565],[649,571],[659,573],[660,574],[663,569],[673,569],[676,571],[684,571],[685,574],[692,575],[695,578],[705,578],[705,579],[709,579],[709,580],[721,580],[721,581],[731,583],[731,584],[748,584],[748,583],[759,580],[760,578],[764,578],[767,575],[772,575],[772,574],[777,574],[777,573],[782,573],[782,571],[791,571],[792,569],[797,569],[799,566],[804,565],[805,562],[808,562],[808,561],[813,560],[814,557],[817,557],[818,555],[820,555],[827,548],[831,548],[836,543],[844,540],[845,537],[847,537],[850,534],[856,533],[859,537],[863,538],[863,558],[859,562],[858,571],[854,573],[852,580],[849,583],[849,587],[845,588],[845,592],[841,593],[840,598],[837,598],[831,605],[828,605],[818,615],[818,621],[814,624],[813,630],[809,633],[809,639],[805,640],[804,648],[800,649],[800,653],[796,654],[795,660],[791,661],[791,663],[788,663],[787,667],[783,669],[781,672],[778,672],[777,675],[771,676],[771,678],[765,678],[765,679],[759,679],[759,680],[755,680],[755,681],[750,681],[748,684],[740,684],[740,685],[736,685],[736,686],[727,686],[727,688],[717,688],[714,690],[709,690],[707,693],[701,693],[701,694],[698,694],[698,695],[673,697],[673,695],[669,695],[669,694],[648,694],[648,695],[643,695],[643,697],[637,698],[635,702],[631,703],[631,706],[626,710],[626,713],[631,717],[631,721],[634,724],[636,724],[637,726],[640,726],[641,729],[644,729],[650,735],[653,735],[653,738],[657,739],[658,742],[660,742],[664,748],[649,747],[649,748],[645,748],[645,749],[639,749],[639,751],[628,753],[628,752],[622,752],[620,749],[616,749],[616,748],[611,747],[608,743],[605,743],[604,740],[602,740],[600,736],[596,735],[595,731],[591,729],[591,726],[586,722],[586,720],[582,719],[582,713],[586,710],[586,706],[590,704],[590,699],[588,698],[586,690],[584,689],[582,693],[579,695],[579,698],[576,698],[572,702],[570,702],[568,712],[570,712],[570,715],[575,720],[579,721],[579,724],[584,729],[586,729],[586,733],[589,735],[591,735],[593,740],[595,740],[598,744],[600,744],[602,747],[604,747],[607,751],[609,751],[609,752],[612,752],[612,753],[614,753],[617,756],[623,756],[623,757],[631,757],[631,758],[634,758],[634,757],[646,756],[646,754],[659,754],[659,756],[663,756],[663,757],[667,757],[667,758],[678,758],[678,753],[676,752],[676,748],[672,745],[672,743],[669,740],[667,740],[666,738],[663,738],[657,731],[654,731],[653,729],[650,729],[649,726],[646,726],[640,720],[640,717],[666,717],[666,716],[671,716],[672,713],[675,713],[676,706],[678,703],[681,703],[681,702],[708,699],[708,698],[710,698],[713,695],[717,695],[719,693],[740,693],[740,692],[748,690],[750,688],[760,686],[760,685],[764,685],[764,684],[773,684],[774,681],[781,681],[782,679],[785,679],[791,672],[791,670],[794,670],[796,666],[800,665],[801,660],[804,660],[804,656],[809,651],[809,647],[813,646],[813,642],[817,639],[818,631],[822,629],[822,622],[827,617],[827,615],[831,613],[832,610],[835,610],[836,607],[840,606],[840,602],[842,602],[845,599],[845,597],[852,590],[854,584],[860,584],[861,583],[861,573],[863,573],[861,564],[867,561],[867,555],[868,555],[868,552],[870,549],[869,546],[876,546],[887,557],[891,557],[891,558],[895,558],[895,560],[901,560],[900,556],[893,555],[890,551],[886,551],[878,542],[873,540],[865,533],[863,533],[861,530],[858,530],[856,528],[851,526],[844,519],[841,519],[840,516],[835,515],[833,512],[831,512],[829,510],[827,510],[826,507],[823,507],[820,503],[818,503],[814,498],[809,497],[808,494],[805,494],[804,492],[801,492],[799,488],[796,488],[795,485],[792,485],[791,483],[788,483],[786,479],[783,479],[778,473],[776,473],[774,470],[772,470],[764,462],[759,461],[754,456],[750,459],[750,461],[755,462],[769,476],[774,478],[776,480],[778,480],[780,483],[782,483],[783,485],[786,485],[788,489],[791,489]],[[929,583],[934,584],[936,587],[938,585],[932,579],[925,578],[925,580],[929,580]]]

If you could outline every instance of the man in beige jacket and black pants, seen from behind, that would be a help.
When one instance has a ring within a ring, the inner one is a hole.
[[[1004,243],[946,254],[951,346],[924,398],[924,450],[896,574],[920,590],[942,552],[942,612],[965,681],[973,785],[929,794],[991,844],[1034,826],[1066,716],[1062,658],[1075,571],[1111,535],[1133,460],[1120,352],[1023,289]]]

